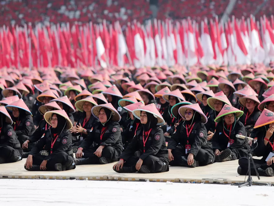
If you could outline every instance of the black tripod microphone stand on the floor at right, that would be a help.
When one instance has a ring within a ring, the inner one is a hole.
[[[251,167],[250,167],[250,161],[253,164],[253,167],[255,169],[256,175],[258,177],[258,179],[260,179],[260,176],[258,174],[257,168],[255,167],[255,163],[252,159],[252,154],[251,154],[251,149],[250,146],[248,145],[247,141],[244,141],[245,145],[247,146],[248,149],[248,179],[246,182],[243,183],[233,183],[231,185],[236,185],[238,187],[242,187],[242,186],[251,186],[251,185],[268,185],[267,183],[258,183],[258,182],[253,182],[252,177],[251,177]],[[257,143],[257,142],[256,142]],[[258,143],[257,143],[258,144]]]

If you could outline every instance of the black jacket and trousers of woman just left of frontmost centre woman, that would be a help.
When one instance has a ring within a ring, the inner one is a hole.
[[[76,159],[76,165],[79,164],[99,164],[99,157],[93,154],[99,146],[104,145],[102,157],[107,159],[107,162],[117,161],[122,152],[122,137],[120,125],[118,122],[109,121],[103,126],[101,122],[97,122],[93,126],[93,130],[89,136],[78,147],[83,150],[83,157]]]

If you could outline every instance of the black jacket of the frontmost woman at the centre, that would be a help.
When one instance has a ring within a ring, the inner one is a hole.
[[[169,163],[166,140],[163,136],[163,130],[160,127],[155,127],[151,130],[145,145],[143,144],[143,127],[139,127],[132,142],[128,145],[125,151],[120,155],[120,159],[128,160],[134,156],[136,151],[141,152],[140,159],[144,160],[149,155],[159,157],[167,164]]]

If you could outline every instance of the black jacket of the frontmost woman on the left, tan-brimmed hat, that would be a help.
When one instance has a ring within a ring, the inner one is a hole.
[[[52,158],[51,142],[54,142],[54,139],[55,137],[52,138],[50,130],[47,129],[45,136],[39,139],[38,143],[31,149],[29,154],[35,157],[35,155],[44,148],[44,150],[47,150],[49,153],[49,155],[45,157],[45,160],[49,161]],[[69,154],[69,151],[71,151],[71,142],[71,133],[68,130],[63,130],[53,145],[52,154],[56,154],[57,152],[66,152]]]

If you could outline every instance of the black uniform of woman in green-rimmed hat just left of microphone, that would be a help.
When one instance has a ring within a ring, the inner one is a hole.
[[[245,139],[237,138],[236,135],[246,136],[246,129],[240,121],[236,120],[235,126],[234,123],[228,126],[223,122],[218,123],[216,127],[216,132],[212,137],[212,147],[215,152],[218,149],[220,152],[223,150],[231,150],[231,159],[236,160],[240,157],[247,156],[247,147],[244,143]],[[227,131],[228,130],[228,131]],[[219,161],[219,156],[216,156],[216,161]],[[220,160],[222,161],[222,160]]]

